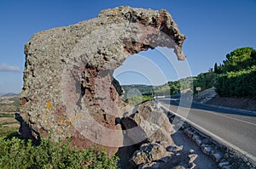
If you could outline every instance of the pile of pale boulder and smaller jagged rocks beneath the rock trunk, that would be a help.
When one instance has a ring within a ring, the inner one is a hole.
[[[120,120],[125,144],[129,145],[118,153],[121,168],[195,167],[197,155],[182,151],[183,146],[173,142],[175,131],[165,112],[147,102]]]

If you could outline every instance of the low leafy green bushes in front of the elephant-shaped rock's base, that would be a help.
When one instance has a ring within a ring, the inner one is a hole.
[[[108,157],[106,151],[96,149],[71,149],[70,142],[55,143],[42,139],[39,146],[31,140],[0,138],[0,168],[117,168],[118,157]]]

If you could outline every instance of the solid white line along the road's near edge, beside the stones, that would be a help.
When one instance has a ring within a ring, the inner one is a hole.
[[[256,162],[256,157],[255,157],[254,155],[251,155],[251,154],[247,153],[247,151],[245,151],[245,150],[243,150],[243,149],[237,147],[237,146],[234,145],[234,144],[231,144],[230,142],[224,140],[223,138],[218,137],[216,134],[214,134],[214,133],[208,131],[207,129],[205,129],[205,128],[203,128],[203,127],[197,125],[197,124],[195,124],[195,123],[192,122],[192,121],[189,121],[188,119],[184,118],[183,116],[178,115],[178,114],[175,113],[174,111],[169,110],[169,109],[166,108],[166,106],[164,106],[163,104],[161,104],[161,107],[162,107],[163,109],[165,109],[165,110],[168,110],[168,111],[172,112],[174,115],[177,115],[178,117],[180,117],[181,119],[183,119],[183,121],[189,122],[189,124],[191,124],[192,126],[198,128],[199,130],[201,130],[201,132],[205,132],[206,134],[211,135],[213,138],[218,139],[220,142],[222,142],[223,144],[229,146],[231,149],[235,149],[236,151],[240,152],[241,155],[245,155],[245,156],[247,156],[249,159],[251,159],[251,160],[253,160],[254,162]]]

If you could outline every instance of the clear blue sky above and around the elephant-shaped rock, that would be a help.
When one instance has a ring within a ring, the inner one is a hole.
[[[225,54],[236,48],[256,48],[255,0],[1,0],[0,93],[21,91],[25,65],[23,48],[34,33],[89,20],[95,18],[104,8],[123,5],[166,8],[172,14],[179,30],[187,36],[183,53],[187,55],[192,76],[209,70],[215,62],[221,63]],[[165,65],[165,57],[151,57],[157,53],[159,52],[154,50],[140,55],[153,63],[159,62],[157,69],[164,72],[163,78],[167,81],[175,80],[175,69],[172,64]],[[138,67],[145,66],[139,65],[136,60],[136,57],[131,57],[127,59],[127,63]],[[123,83],[127,82],[128,77],[131,83],[148,81],[147,78],[142,80],[143,77],[137,75],[131,78],[131,74],[126,72],[119,74],[117,78]]]

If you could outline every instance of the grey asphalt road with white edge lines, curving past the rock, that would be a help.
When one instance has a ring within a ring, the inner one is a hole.
[[[179,106],[178,99],[158,99],[158,101],[177,115],[195,123],[199,130],[204,130],[201,132],[207,132],[205,134],[240,151],[254,163],[256,162],[256,114],[195,103],[189,108],[189,105]]]

